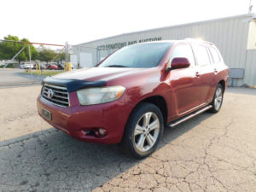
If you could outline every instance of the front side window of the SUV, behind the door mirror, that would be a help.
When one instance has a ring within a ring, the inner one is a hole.
[[[171,62],[176,57],[185,57],[189,60],[191,66],[195,66],[195,57],[189,44],[177,45],[172,52]]]

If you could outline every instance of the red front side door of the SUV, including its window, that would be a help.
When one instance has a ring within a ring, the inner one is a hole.
[[[182,116],[190,109],[200,104],[200,87],[197,68],[195,67],[195,55],[190,44],[177,44],[172,51],[170,65],[176,57],[185,57],[190,62],[190,67],[171,70],[170,83],[172,86],[172,104],[174,113]]]

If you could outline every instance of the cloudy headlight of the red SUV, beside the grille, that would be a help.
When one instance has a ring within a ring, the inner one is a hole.
[[[113,102],[125,92],[123,86],[109,86],[102,88],[87,88],[78,90],[77,94],[81,105],[94,105],[104,102]]]

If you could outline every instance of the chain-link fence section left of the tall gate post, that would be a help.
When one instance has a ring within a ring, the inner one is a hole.
[[[47,76],[74,69],[70,48],[67,43],[0,40],[0,85],[41,83]]]

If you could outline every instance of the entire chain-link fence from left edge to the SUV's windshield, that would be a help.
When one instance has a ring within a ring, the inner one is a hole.
[[[3,44],[6,49],[1,49]],[[95,67],[108,55],[124,46],[125,44],[111,44],[104,47],[67,43],[42,44],[0,39],[0,86],[36,84],[41,83],[45,77],[57,73]],[[11,52],[11,54],[1,61],[3,52]]]

